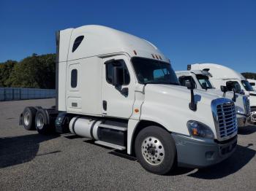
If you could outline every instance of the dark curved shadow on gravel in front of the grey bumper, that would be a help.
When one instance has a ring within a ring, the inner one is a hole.
[[[252,146],[252,144],[246,147],[238,145],[236,152],[227,158],[227,160],[208,168],[198,169],[195,173],[188,174],[187,176],[198,179],[221,179],[230,174],[234,174],[249,163],[252,157],[255,157],[255,150],[250,149],[250,146]]]

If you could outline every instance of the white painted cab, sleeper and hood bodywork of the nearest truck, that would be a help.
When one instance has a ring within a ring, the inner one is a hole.
[[[73,43],[80,35],[84,36],[83,42],[72,52]],[[191,99],[187,87],[140,84],[131,63],[131,58],[134,57],[170,63],[150,42],[112,28],[82,26],[60,31],[59,111],[128,120],[128,154],[131,153],[133,133],[138,123],[143,120],[157,122],[170,132],[186,136],[189,136],[187,121],[196,120],[208,125],[214,132],[214,139],[217,139],[211,101],[219,98],[218,95],[195,90],[197,111],[194,112],[189,109]],[[121,88],[128,87],[128,96],[122,95],[115,86],[106,81],[104,63],[111,59],[123,60],[126,63],[130,82]],[[78,84],[75,88],[70,83],[72,69],[78,70]],[[102,108],[102,101],[108,101],[107,111]]]

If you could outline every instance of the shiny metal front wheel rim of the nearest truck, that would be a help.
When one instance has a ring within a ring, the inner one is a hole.
[[[144,139],[141,152],[144,159],[151,165],[159,165],[165,157],[165,148],[161,141],[153,136]]]

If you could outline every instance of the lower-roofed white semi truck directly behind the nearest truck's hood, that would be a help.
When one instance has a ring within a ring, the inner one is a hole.
[[[250,104],[249,98],[246,95],[236,93],[237,90],[233,89],[233,92],[225,92],[225,86],[222,86],[222,90],[219,90],[211,84],[209,77],[212,77],[208,71],[203,70],[187,70],[176,71],[178,81],[181,85],[185,86],[186,81],[189,80],[195,84],[197,90],[205,91],[218,95],[219,97],[230,98],[236,105],[236,117],[238,121],[238,127],[244,127],[250,123]]]

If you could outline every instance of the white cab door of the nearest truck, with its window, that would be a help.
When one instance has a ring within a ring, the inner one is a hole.
[[[124,85],[112,85],[113,67],[123,70]],[[135,76],[125,55],[104,58],[102,64],[102,114],[109,117],[129,118],[135,101]]]

